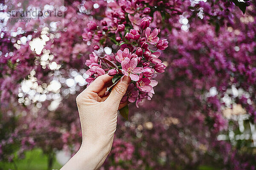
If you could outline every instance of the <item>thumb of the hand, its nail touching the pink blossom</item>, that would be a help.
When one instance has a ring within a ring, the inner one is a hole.
[[[127,76],[123,76],[120,81],[113,87],[110,95],[105,100],[108,102],[109,105],[117,105],[119,106],[119,103],[122,99],[122,97],[125,95],[126,90],[131,82],[131,78]]]

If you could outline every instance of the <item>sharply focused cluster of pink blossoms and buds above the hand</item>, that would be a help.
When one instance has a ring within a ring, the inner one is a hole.
[[[159,50],[165,50],[168,47],[168,41],[166,39],[160,40],[160,29],[151,30],[149,25],[150,20],[143,17],[140,21],[140,29],[130,29],[124,34],[123,39],[116,37],[120,49],[115,56],[104,55],[101,57],[92,52],[89,55],[90,59],[86,60],[85,63],[89,67],[86,74],[90,76],[86,81],[90,84],[96,77],[109,74],[113,76],[113,83],[115,83],[125,75],[130,77],[132,82],[121,102],[137,101],[136,106],[139,107],[139,102],[143,99],[150,100],[154,94],[153,87],[158,83],[153,79],[153,75],[155,72],[163,73],[166,68],[162,60],[159,59],[161,55]],[[89,22],[87,27],[93,31],[96,30],[97,25],[94,22]],[[107,31],[108,28],[104,26],[103,29]],[[124,31],[125,26],[120,25],[118,30],[120,29]],[[87,32],[86,35],[91,34]],[[95,45],[94,49],[98,50],[99,46]]]

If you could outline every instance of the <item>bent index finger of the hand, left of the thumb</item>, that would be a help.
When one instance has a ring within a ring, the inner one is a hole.
[[[111,76],[108,74],[101,75],[97,77],[86,89],[85,91],[92,91],[95,93],[98,93],[99,91],[102,90],[102,88],[105,87],[105,85],[110,82],[112,79]]]

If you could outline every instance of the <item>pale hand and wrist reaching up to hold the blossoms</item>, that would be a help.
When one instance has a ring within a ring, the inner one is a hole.
[[[76,97],[82,130],[82,144],[78,152],[61,170],[97,170],[111,151],[116,131],[117,111],[127,103],[120,104],[131,82],[122,77],[105,95],[112,77],[107,74],[97,77]]]

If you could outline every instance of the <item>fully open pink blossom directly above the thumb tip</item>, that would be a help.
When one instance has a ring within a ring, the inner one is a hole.
[[[137,67],[137,64],[138,64],[137,58],[133,57],[130,60],[128,57],[125,57],[125,59],[121,62],[122,73],[125,76],[131,77],[131,80],[138,81],[139,76],[137,74],[142,73],[143,68]]]

